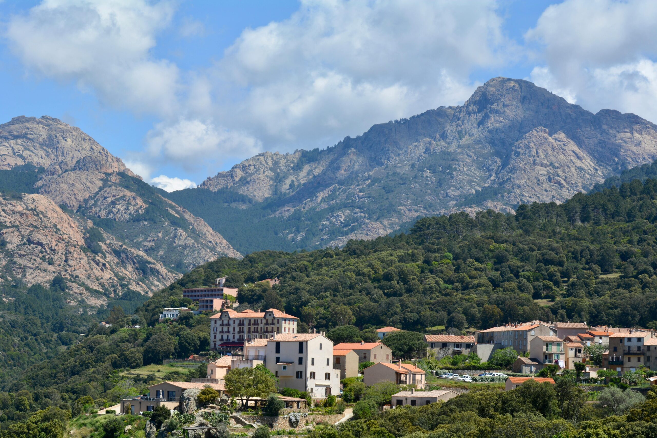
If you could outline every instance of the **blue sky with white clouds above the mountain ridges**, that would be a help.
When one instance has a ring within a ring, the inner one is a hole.
[[[0,121],[60,118],[167,190],[495,76],[657,121],[655,1],[5,1],[0,22]]]

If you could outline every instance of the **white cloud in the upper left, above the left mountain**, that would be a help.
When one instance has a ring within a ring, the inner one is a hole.
[[[73,79],[112,106],[168,116],[177,106],[179,71],[149,51],[172,16],[169,1],[43,0],[13,16],[5,36],[39,74]]]

